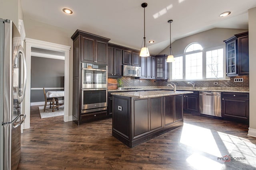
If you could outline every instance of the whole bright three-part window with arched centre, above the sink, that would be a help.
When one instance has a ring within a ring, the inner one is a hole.
[[[191,43],[170,64],[169,80],[225,78],[224,65],[224,46],[203,49],[199,43]]]

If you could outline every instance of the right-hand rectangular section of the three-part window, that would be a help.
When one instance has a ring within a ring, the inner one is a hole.
[[[206,78],[223,78],[223,49],[206,51]]]

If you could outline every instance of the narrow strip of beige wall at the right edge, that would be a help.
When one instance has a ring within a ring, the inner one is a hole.
[[[249,10],[250,118],[248,135],[256,137],[256,8]]]

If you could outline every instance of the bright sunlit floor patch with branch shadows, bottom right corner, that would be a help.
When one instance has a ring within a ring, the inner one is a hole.
[[[222,170],[256,170],[256,145],[241,141],[226,158]]]

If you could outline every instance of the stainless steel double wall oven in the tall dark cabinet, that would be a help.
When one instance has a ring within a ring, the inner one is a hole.
[[[108,97],[108,66],[82,63],[81,90],[81,113],[106,110]]]

